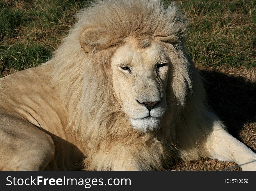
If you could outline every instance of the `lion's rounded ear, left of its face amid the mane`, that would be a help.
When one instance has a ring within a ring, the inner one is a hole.
[[[80,37],[81,46],[89,54],[96,46],[98,48],[106,46],[109,40],[109,31],[105,28],[88,28]]]

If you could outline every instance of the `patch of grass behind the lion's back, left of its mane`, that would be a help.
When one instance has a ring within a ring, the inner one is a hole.
[[[0,1],[0,77],[46,62],[85,1]]]

